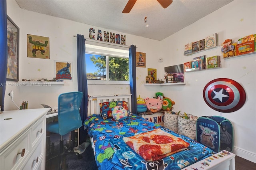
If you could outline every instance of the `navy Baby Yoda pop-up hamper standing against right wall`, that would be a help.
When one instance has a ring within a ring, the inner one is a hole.
[[[196,121],[196,139],[214,150],[220,152],[233,150],[233,127],[228,119],[219,116],[203,116]]]

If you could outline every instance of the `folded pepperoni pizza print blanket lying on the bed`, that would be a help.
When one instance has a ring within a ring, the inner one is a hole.
[[[189,146],[188,142],[160,128],[124,137],[123,140],[137,154],[149,162],[180,152]]]

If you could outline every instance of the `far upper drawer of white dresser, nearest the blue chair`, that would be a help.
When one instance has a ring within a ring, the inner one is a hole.
[[[40,119],[35,125],[31,128],[31,143],[32,149],[38,142],[38,139],[45,133],[45,119]]]

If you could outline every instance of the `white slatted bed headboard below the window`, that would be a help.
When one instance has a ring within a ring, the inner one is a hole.
[[[131,108],[132,95],[112,95],[112,96],[89,96],[88,116],[92,114],[100,115],[100,103],[108,101],[126,101],[128,108]]]

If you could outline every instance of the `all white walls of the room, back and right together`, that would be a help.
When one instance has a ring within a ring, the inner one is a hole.
[[[241,9],[246,9],[242,10]],[[163,41],[150,40],[129,34],[126,45],[136,45],[137,51],[146,53],[146,68],[137,67],[137,97],[153,97],[162,92],[176,102],[175,111],[192,113],[197,116],[219,115],[229,119],[234,126],[234,152],[243,158],[256,162],[256,54],[222,59],[222,68],[185,73],[186,85],[144,86],[147,68],[156,68],[157,77],[163,79],[164,67],[182,64],[200,55],[222,55],[221,47],[211,49],[198,55],[184,56],[184,44],[204,39],[205,36],[217,33],[219,42],[230,38],[234,41],[246,35],[256,34],[256,1],[234,1],[212,14],[194,22],[190,26],[166,38]],[[8,93],[14,91],[14,101],[29,101],[29,108],[40,108],[41,103],[57,105],[58,95],[68,91],[77,91],[76,74],[76,34],[88,37],[91,27],[52,16],[22,10],[15,1],[7,1],[7,14],[20,28],[20,81],[54,77],[54,60],[73,62],[73,81],[52,87],[6,87],[5,110],[14,110]],[[242,20],[243,19],[243,20]],[[94,27],[96,29],[96,26]],[[171,28],[170,28],[171,29]],[[102,30],[107,30],[102,28]],[[146,31],[146,28],[145,28]],[[116,32],[122,34],[121,32]],[[50,38],[50,59],[28,58],[26,52],[26,34]],[[159,63],[158,58],[164,62]],[[38,71],[41,69],[41,71]],[[244,106],[233,113],[214,111],[204,102],[204,86],[216,78],[229,78],[240,83],[247,95]],[[8,81],[7,83],[14,83]],[[89,85],[88,95],[128,94],[126,85]]]

